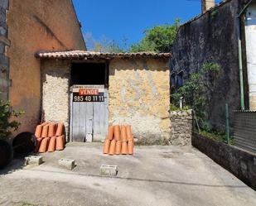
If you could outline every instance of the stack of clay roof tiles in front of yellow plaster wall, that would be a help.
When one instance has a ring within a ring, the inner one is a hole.
[[[109,126],[109,134],[104,141],[104,154],[133,155],[134,139],[130,125]]]

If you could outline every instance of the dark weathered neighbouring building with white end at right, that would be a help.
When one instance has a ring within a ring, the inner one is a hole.
[[[211,127],[224,130],[225,103],[229,104],[231,127],[233,110],[256,110],[256,1],[226,0],[215,7],[202,2],[210,9],[203,9],[178,31],[172,50],[171,87],[183,84],[183,79],[205,63],[220,65],[207,111]]]

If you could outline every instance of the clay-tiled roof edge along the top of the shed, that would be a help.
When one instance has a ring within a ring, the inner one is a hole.
[[[138,53],[102,53],[87,50],[67,50],[67,51],[39,51],[36,58],[60,59],[60,60],[94,60],[94,59],[127,59],[127,58],[162,58],[168,59],[171,53],[138,52]]]

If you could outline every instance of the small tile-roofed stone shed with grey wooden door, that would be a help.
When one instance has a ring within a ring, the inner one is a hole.
[[[141,144],[170,142],[169,53],[39,52],[42,114],[70,141],[100,141],[130,124]]]

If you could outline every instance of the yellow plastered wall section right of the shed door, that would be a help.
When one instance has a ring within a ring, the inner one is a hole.
[[[168,60],[112,60],[109,123],[132,125],[139,144],[167,144],[169,89]]]

